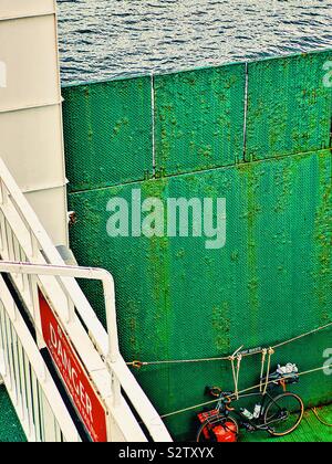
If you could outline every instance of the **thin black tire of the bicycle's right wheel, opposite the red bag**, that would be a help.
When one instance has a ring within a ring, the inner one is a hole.
[[[295,404],[299,407],[299,409],[295,412],[290,412],[289,410],[287,410],[287,418],[293,418],[294,423],[289,426],[287,430],[284,431],[276,431],[276,428],[273,430],[268,429],[268,432],[270,433],[270,435],[272,436],[286,436],[289,435],[290,433],[292,433],[301,423],[302,419],[303,419],[303,414],[304,414],[304,404],[303,401],[300,397],[298,397],[294,393],[282,393],[279,394],[278,397],[273,398],[272,401],[270,401],[270,403],[267,405],[267,409],[264,411],[264,423],[269,428],[269,424],[271,423],[271,420],[273,418],[273,412],[272,412],[272,408],[276,408],[276,404],[278,404],[278,408],[282,411],[284,408],[282,408],[282,400],[294,400],[294,407]],[[284,402],[284,401],[283,401]],[[297,414],[297,416],[295,416]],[[276,414],[274,414],[276,415]],[[278,423],[278,420],[272,420],[272,423],[276,425],[276,423]],[[280,420],[280,423],[286,423],[286,421],[283,419]]]

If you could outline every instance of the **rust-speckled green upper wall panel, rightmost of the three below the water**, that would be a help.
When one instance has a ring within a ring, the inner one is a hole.
[[[247,160],[329,148],[329,61],[331,51],[249,63]]]

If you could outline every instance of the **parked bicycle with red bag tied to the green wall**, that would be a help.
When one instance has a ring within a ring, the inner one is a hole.
[[[274,376],[274,379],[273,379]],[[207,388],[208,393],[218,398],[215,410],[199,414],[200,419],[205,418],[198,432],[196,440],[201,441],[226,441],[218,440],[215,431],[217,428],[222,428],[228,432],[228,441],[231,440],[231,434],[239,434],[239,429],[245,428],[249,432],[267,431],[272,436],[286,436],[292,433],[301,423],[304,414],[304,404],[302,399],[291,392],[273,396],[273,391],[286,383],[298,382],[298,376],[291,378],[283,378],[271,375],[269,380],[274,380],[274,383],[269,384],[266,392],[253,392],[241,396],[239,399],[257,397],[259,401],[256,402],[255,413],[236,408],[231,408],[235,394],[231,391],[221,391],[219,388]],[[237,419],[236,419],[236,418]],[[218,429],[220,430],[220,429]],[[225,435],[226,436],[226,435]]]

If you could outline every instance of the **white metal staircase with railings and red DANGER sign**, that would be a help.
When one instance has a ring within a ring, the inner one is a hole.
[[[65,266],[0,159],[0,376],[28,441],[172,441],[118,349],[114,283]],[[100,281],[107,331],[75,278]]]

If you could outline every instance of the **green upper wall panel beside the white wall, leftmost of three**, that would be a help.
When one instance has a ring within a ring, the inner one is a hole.
[[[143,180],[153,170],[151,78],[63,88],[70,191]]]

